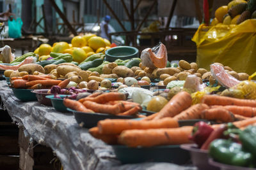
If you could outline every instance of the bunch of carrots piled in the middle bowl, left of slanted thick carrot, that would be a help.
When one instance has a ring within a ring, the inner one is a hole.
[[[64,99],[64,104],[68,108],[87,113],[108,113],[112,115],[138,115],[142,110],[140,104],[125,101],[125,94],[118,92],[94,93],[88,97],[79,99],[79,101],[71,101]]]

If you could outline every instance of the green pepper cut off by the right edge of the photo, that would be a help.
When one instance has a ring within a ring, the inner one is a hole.
[[[248,126],[239,134],[243,147],[256,157],[256,126]]]

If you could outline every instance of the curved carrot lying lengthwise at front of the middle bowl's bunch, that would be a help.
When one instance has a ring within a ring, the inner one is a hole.
[[[93,101],[84,101],[83,105],[86,108],[93,110],[97,113],[109,113],[113,115],[120,113],[120,111],[124,108],[124,105],[122,103],[118,103],[115,105],[108,105],[108,104],[95,103]]]

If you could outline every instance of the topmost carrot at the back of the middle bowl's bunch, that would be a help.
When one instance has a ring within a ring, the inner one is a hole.
[[[104,94],[100,94],[97,97],[85,97],[83,98],[83,100],[81,100],[80,102],[84,102],[84,101],[93,101],[95,103],[108,103],[109,101],[122,101],[125,100],[125,94],[122,93],[118,93],[118,92],[109,92],[109,93],[104,93]]]

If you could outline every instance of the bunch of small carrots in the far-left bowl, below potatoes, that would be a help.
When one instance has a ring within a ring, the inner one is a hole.
[[[11,87],[15,89],[50,89],[52,85],[66,87],[69,80],[54,80],[51,75],[25,75],[22,77],[12,77]]]

